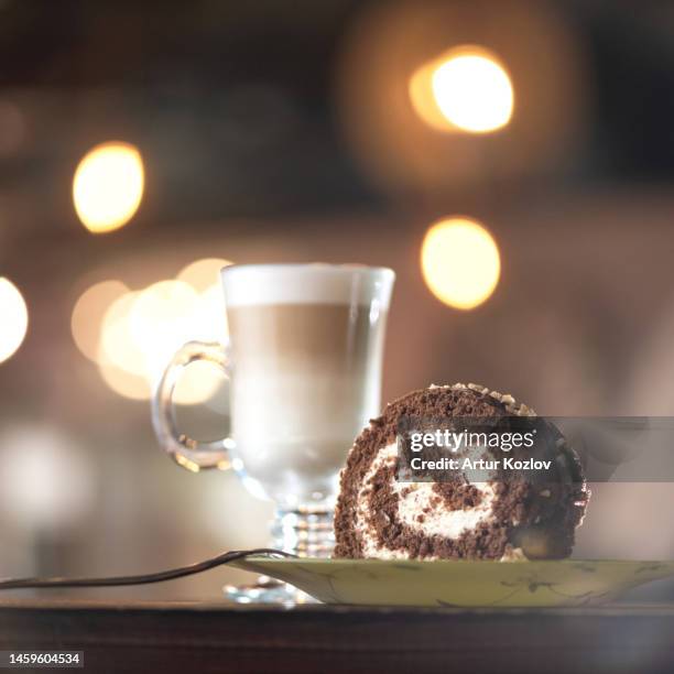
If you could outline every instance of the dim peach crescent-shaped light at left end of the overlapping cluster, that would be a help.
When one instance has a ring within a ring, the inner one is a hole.
[[[70,317],[70,330],[77,348],[89,360],[98,360],[100,330],[110,305],[127,294],[121,281],[101,281],[87,289],[77,300]]]

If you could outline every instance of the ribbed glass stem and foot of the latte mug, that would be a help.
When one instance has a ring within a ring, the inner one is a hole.
[[[322,504],[276,510],[270,526],[270,547],[298,557],[329,557],[335,547],[333,514],[330,507]],[[269,576],[260,576],[252,585],[227,585],[224,591],[237,604],[319,604],[296,587]]]

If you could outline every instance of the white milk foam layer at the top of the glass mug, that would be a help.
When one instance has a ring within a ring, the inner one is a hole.
[[[358,264],[232,264],[221,272],[227,306],[365,304],[387,311],[395,274]]]

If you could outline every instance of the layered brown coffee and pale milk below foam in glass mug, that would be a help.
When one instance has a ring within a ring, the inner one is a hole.
[[[379,411],[385,312],[335,304],[228,307],[235,454],[276,501],[336,492]]]

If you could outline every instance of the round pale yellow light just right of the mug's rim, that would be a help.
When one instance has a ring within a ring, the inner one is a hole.
[[[475,308],[488,300],[501,274],[493,237],[467,218],[449,218],[433,225],[424,237],[421,264],[431,292],[459,309]]]

